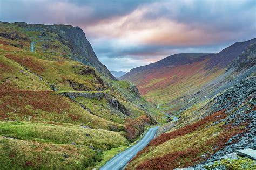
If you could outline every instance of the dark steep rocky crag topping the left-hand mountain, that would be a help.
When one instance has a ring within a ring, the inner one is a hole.
[[[80,27],[73,27],[71,25],[26,24],[23,22],[15,22],[12,24],[23,27],[27,31],[41,32],[37,37],[38,40],[44,40],[47,38],[47,34],[55,34],[56,39],[70,49],[70,52],[64,57],[95,67],[96,70],[104,76],[116,80],[106,66],[98,60],[90,42],[86,39],[85,33]],[[44,46],[44,48],[47,47],[48,46]]]

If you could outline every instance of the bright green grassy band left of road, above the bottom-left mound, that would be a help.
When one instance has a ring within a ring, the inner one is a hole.
[[[85,129],[79,125],[53,125],[30,122],[0,122],[0,135],[21,140],[33,140],[42,143],[71,144],[110,149],[120,147],[127,140],[118,132],[103,129]]]

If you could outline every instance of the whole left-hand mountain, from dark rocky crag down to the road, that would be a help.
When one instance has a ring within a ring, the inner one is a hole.
[[[164,121],[69,25],[0,22],[0,101],[0,169],[93,169]]]

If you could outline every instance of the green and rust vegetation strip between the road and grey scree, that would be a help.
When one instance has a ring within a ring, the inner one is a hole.
[[[162,134],[140,151],[127,169],[185,168],[207,160],[227,146],[231,137],[238,134],[241,138],[243,132],[248,130],[244,128],[244,123],[235,127],[224,123],[214,124],[225,117],[224,110],[221,110],[196,123]]]

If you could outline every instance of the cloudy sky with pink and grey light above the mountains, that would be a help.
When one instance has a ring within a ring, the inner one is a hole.
[[[109,70],[256,38],[256,0],[0,0],[0,20],[81,27]]]

